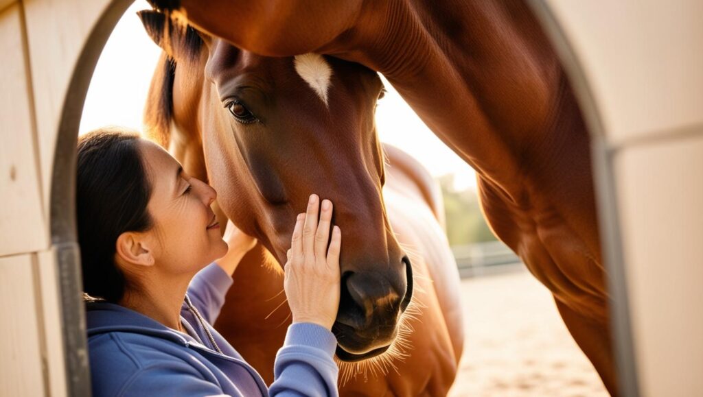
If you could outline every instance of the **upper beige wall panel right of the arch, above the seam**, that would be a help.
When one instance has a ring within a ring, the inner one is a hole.
[[[703,1],[546,1],[624,145],[703,123]]]

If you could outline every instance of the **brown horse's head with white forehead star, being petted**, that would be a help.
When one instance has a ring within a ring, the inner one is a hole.
[[[386,351],[413,279],[383,202],[378,74],[314,54],[257,56],[165,23],[161,13],[141,18],[172,58],[162,58],[152,83],[147,126],[162,130],[162,144],[174,130],[202,144],[220,207],[279,264],[309,195],[332,200],[333,223],[342,230],[337,356],[356,361]]]

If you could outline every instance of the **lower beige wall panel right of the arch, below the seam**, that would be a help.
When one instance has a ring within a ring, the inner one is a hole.
[[[633,340],[647,396],[703,390],[703,127],[615,161]]]

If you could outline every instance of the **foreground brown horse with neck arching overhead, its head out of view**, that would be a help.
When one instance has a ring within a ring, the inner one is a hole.
[[[588,132],[524,0],[153,3],[247,51],[330,54],[385,74],[476,169],[491,228],[617,393]]]

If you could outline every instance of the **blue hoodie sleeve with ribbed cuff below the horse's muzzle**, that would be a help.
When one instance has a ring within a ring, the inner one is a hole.
[[[312,323],[288,327],[285,343],[276,355],[271,396],[339,396],[339,369],[332,359],[335,335]]]

